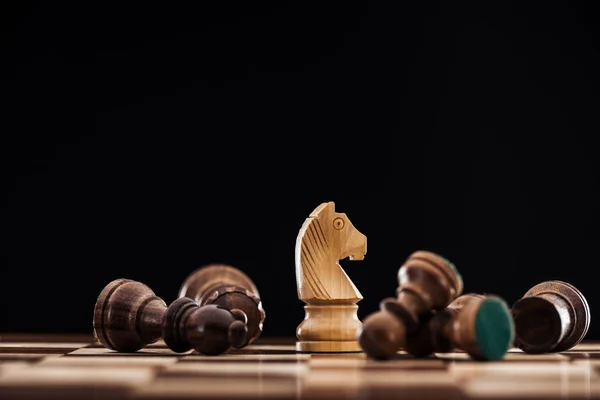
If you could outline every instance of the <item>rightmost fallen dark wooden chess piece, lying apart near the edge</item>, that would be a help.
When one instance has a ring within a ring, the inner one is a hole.
[[[590,307],[573,285],[551,280],[529,289],[512,306],[515,345],[526,353],[551,353],[578,344],[590,326]]]

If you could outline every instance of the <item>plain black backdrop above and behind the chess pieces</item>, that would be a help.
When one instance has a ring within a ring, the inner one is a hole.
[[[572,283],[600,338],[598,14],[197,3],[2,6],[0,332],[91,332],[111,280],[169,303],[222,262],[292,336],[296,235],[334,201],[359,317],[429,249],[510,304]]]

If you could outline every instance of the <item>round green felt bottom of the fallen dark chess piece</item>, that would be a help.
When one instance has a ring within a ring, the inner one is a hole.
[[[488,298],[481,303],[475,316],[475,338],[484,359],[500,360],[515,335],[510,309],[498,298]]]

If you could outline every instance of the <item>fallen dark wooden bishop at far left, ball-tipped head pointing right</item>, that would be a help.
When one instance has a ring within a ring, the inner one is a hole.
[[[177,353],[194,349],[217,355],[242,347],[247,332],[240,310],[200,306],[185,297],[167,307],[148,286],[130,279],[109,283],[94,308],[95,336],[120,352],[134,352],[162,338]]]

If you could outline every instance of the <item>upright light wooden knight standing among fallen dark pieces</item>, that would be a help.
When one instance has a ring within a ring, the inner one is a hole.
[[[306,303],[304,321],[296,329],[301,352],[361,352],[357,332],[362,295],[339,260],[362,260],[367,237],[333,202],[319,205],[304,221],[296,239],[298,298]]]

